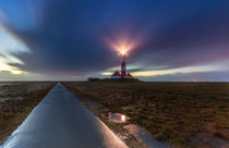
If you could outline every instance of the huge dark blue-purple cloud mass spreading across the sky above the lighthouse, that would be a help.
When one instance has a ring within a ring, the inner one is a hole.
[[[15,53],[25,64],[13,65],[24,71],[83,75],[109,69],[117,57],[105,38],[141,40],[129,62],[146,67],[229,58],[227,1],[43,0],[36,4],[31,3],[35,26],[21,29],[16,23],[5,24],[31,49]]]

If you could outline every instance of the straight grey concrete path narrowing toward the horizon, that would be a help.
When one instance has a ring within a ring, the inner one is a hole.
[[[65,87],[57,84],[3,148],[126,148]]]

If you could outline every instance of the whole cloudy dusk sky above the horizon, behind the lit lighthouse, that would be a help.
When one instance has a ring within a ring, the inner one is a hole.
[[[0,81],[229,81],[228,0],[1,0]]]

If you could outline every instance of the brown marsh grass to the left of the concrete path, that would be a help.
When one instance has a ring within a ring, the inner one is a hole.
[[[0,145],[25,120],[55,83],[0,83]]]

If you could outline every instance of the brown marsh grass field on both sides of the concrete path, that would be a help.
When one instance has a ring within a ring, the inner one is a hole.
[[[24,121],[56,83],[0,83],[0,143]],[[229,83],[79,82],[62,83],[116,134],[137,124],[174,148],[229,147]],[[126,123],[109,123],[108,113]],[[118,133],[117,133],[118,132]],[[129,141],[129,139],[131,139]],[[134,137],[130,148],[143,147]]]

